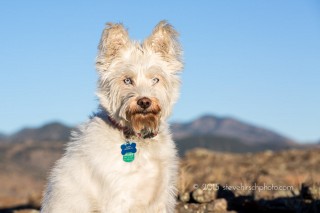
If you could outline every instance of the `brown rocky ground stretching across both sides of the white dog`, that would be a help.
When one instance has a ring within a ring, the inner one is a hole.
[[[16,145],[19,147],[0,146],[1,213],[39,209],[45,178],[63,150],[62,143]],[[319,149],[255,154],[189,151],[180,162],[176,212],[318,213],[319,152]]]

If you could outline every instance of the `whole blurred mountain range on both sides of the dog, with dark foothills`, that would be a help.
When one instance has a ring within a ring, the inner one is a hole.
[[[187,123],[173,123],[171,129],[181,155],[197,147],[237,153],[298,147],[292,140],[273,131],[233,118],[212,115],[202,116]],[[24,128],[8,136],[0,135],[0,141],[31,141],[35,142],[35,146],[37,142],[67,142],[71,130],[71,127],[53,122],[39,128]]]

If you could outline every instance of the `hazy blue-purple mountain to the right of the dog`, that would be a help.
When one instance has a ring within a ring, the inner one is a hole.
[[[173,123],[171,130],[176,140],[195,136],[218,136],[233,138],[249,145],[264,143],[294,144],[293,140],[265,128],[233,118],[212,115],[205,115],[187,123]]]

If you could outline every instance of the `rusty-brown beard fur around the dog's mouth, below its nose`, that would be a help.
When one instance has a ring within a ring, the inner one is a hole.
[[[130,105],[127,110],[127,120],[131,129],[143,138],[153,137],[158,134],[161,108],[157,100],[152,100],[152,105],[142,110],[136,104]]]

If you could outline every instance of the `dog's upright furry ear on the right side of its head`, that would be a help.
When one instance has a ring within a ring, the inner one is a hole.
[[[181,62],[182,50],[178,36],[178,32],[168,22],[160,21],[151,36],[144,41],[144,45],[161,54],[168,62]]]

